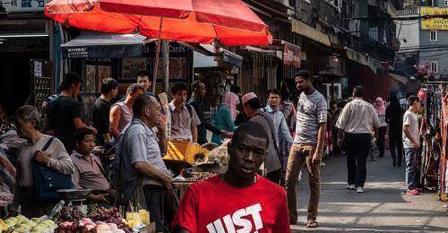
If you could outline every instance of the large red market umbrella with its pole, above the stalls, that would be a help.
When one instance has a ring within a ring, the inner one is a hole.
[[[83,30],[225,46],[272,42],[268,26],[240,0],[53,0],[45,14]]]

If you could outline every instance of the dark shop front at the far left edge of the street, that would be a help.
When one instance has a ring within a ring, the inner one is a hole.
[[[36,104],[35,89],[46,89],[51,80],[43,5],[43,0],[0,1],[0,105],[7,115],[25,103]],[[35,77],[44,77],[45,83]]]

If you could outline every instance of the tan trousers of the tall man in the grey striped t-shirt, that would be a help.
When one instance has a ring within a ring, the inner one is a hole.
[[[310,198],[308,203],[308,220],[317,218],[317,207],[321,194],[321,167],[319,163],[313,164],[315,145],[292,145],[289,153],[288,168],[286,171],[286,192],[288,195],[289,220],[297,220],[297,181],[300,170],[306,164],[309,173]]]

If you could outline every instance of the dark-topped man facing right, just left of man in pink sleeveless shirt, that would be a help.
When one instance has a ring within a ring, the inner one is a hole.
[[[109,134],[109,115],[110,115],[110,101],[116,98],[118,82],[114,79],[105,79],[101,83],[101,96],[95,101],[93,105],[91,116],[92,124],[98,130],[96,143],[103,145],[111,142]]]

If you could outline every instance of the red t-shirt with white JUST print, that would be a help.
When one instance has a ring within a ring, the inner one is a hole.
[[[258,176],[252,186],[229,186],[220,176],[188,187],[173,228],[200,232],[289,233],[285,190]]]

